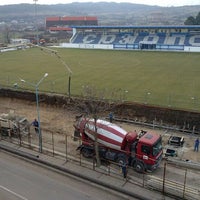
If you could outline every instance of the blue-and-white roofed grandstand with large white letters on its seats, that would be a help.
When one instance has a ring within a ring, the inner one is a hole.
[[[200,51],[200,26],[72,26],[72,44],[94,48]],[[96,47],[98,48],[98,47]],[[100,47],[101,48],[101,47]]]

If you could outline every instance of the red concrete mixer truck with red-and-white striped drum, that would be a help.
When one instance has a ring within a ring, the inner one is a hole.
[[[94,141],[97,138],[100,158],[127,163],[138,172],[155,170],[162,160],[160,135],[143,131],[127,132],[116,124],[105,120],[80,118],[74,124],[76,135],[82,144],[77,148],[84,157],[95,155]]]

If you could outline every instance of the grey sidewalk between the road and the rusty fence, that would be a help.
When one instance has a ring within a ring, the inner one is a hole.
[[[61,156],[48,156],[40,154],[28,148],[19,147],[19,145],[0,140],[0,150],[9,151],[19,156],[26,157],[32,161],[46,165],[47,167],[60,170],[64,173],[68,173],[71,176],[83,178],[86,181],[93,182],[101,185],[107,189],[120,192],[124,195],[134,199],[141,200],[172,200],[170,197],[164,197],[161,193],[153,190],[148,190],[143,187],[133,184],[131,178],[124,180],[121,176],[109,176],[105,173],[105,169],[95,168],[95,170],[89,167],[80,166],[77,161],[71,160],[70,158],[65,160],[65,157]],[[84,164],[83,164],[84,165]]]

